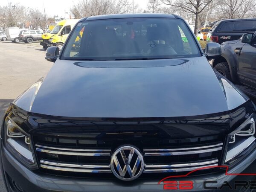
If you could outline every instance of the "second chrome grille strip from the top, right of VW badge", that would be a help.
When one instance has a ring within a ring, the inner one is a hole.
[[[166,151],[166,152],[149,152],[144,153],[144,156],[171,156],[171,155],[187,155],[187,154],[198,154],[198,153],[207,153],[207,152],[213,152],[213,151],[219,151],[222,149],[221,147],[217,148],[208,148],[208,149],[202,149],[202,150],[195,150],[195,151]]]

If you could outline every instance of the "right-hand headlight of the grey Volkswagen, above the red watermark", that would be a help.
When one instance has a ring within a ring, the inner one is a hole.
[[[235,131],[228,135],[227,154],[225,164],[232,164],[248,154],[255,148],[255,115],[254,113],[246,119]]]

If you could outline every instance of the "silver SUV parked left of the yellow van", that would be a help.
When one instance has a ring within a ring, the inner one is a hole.
[[[19,40],[31,44],[33,41],[42,40],[42,32],[38,30],[21,30]]]

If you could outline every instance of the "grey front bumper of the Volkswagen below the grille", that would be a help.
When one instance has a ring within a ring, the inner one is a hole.
[[[233,169],[230,169],[228,173],[256,173],[255,159],[256,151],[253,151],[253,153],[251,153],[240,164],[233,167]],[[4,176],[4,180],[6,180],[6,185],[10,192],[12,192],[12,189],[10,188],[10,182],[15,182],[16,185],[25,192],[163,191],[163,182],[157,184],[163,178],[159,178],[159,180],[137,179],[132,182],[124,182],[118,179],[85,179],[77,177],[61,177],[44,174],[41,172],[32,172],[20,164],[14,157],[12,157],[12,155],[9,154],[3,145],[1,145],[1,168],[2,175]],[[212,184],[208,183],[207,186],[219,188],[224,183],[224,181],[230,182],[234,179],[240,181],[241,179],[249,181],[255,178],[254,175],[241,177],[236,175],[225,175],[224,172],[218,172],[215,174],[191,176],[182,179],[173,178],[172,180],[192,180],[194,183],[194,188],[192,191],[204,191],[204,181],[215,181],[215,183]]]

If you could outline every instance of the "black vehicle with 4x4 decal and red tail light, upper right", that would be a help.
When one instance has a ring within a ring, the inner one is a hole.
[[[254,31],[256,31],[256,18],[220,20],[209,30],[207,41],[222,44],[240,39],[244,33]]]

